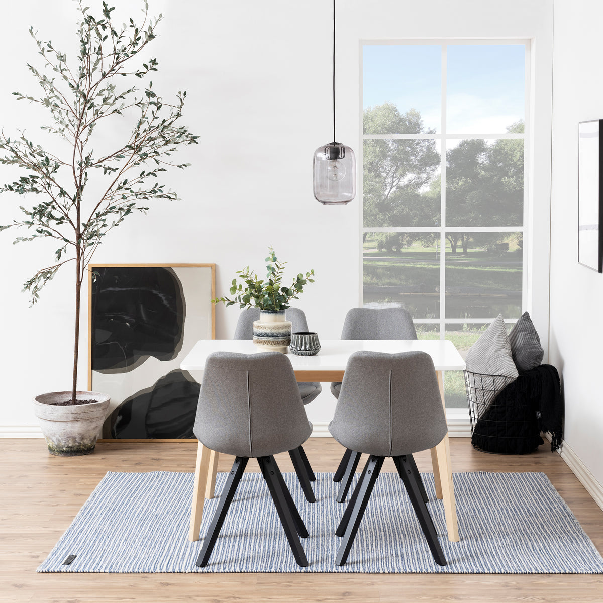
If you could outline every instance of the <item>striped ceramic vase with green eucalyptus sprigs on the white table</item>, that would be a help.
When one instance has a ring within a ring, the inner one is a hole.
[[[303,292],[306,283],[314,283],[314,279],[310,278],[314,276],[314,270],[307,272],[306,278],[298,274],[291,286],[282,285],[287,262],[279,262],[273,248],[269,250],[264,260],[268,262],[267,280],[260,280],[247,266],[244,270],[236,271],[243,283],[237,285],[236,278],[232,281],[230,295],[236,294],[236,297],[219,297],[212,301],[222,301],[227,306],[238,303],[239,308],[259,308],[260,318],[253,321],[253,343],[263,352],[286,354],[291,343],[291,321],[286,320],[286,309],[289,308],[289,301],[299,299],[297,296]]]

